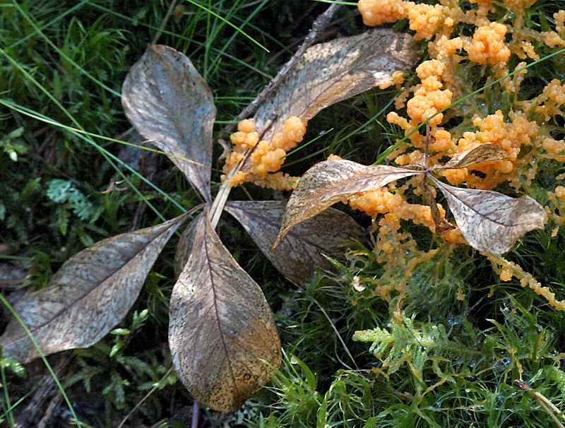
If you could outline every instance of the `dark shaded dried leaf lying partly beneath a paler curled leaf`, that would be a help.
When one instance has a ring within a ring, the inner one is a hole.
[[[338,246],[348,239],[365,239],[364,230],[355,220],[329,208],[297,225],[270,251],[285,205],[282,201],[234,201],[228,202],[225,210],[243,225],[273,266],[292,283],[309,283],[316,267],[330,269],[331,263],[323,254],[335,256]]]

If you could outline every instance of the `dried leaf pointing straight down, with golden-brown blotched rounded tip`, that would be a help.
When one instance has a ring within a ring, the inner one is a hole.
[[[169,307],[173,367],[195,400],[230,412],[270,380],[281,362],[280,339],[261,288],[208,215],[198,218],[191,240]]]

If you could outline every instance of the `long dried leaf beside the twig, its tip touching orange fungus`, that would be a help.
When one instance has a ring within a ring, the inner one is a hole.
[[[416,61],[412,37],[387,28],[316,44],[257,110],[256,131],[270,140],[288,117],[309,120],[335,102],[392,82],[394,71],[410,69]]]

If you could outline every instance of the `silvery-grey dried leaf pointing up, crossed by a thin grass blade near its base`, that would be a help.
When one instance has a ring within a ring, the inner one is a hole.
[[[216,109],[191,61],[171,47],[150,45],[126,76],[121,102],[138,132],[167,153],[210,202]]]

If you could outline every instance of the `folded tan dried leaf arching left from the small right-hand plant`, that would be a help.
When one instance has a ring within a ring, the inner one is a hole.
[[[363,191],[379,189],[397,179],[422,174],[387,165],[361,165],[350,160],[325,160],[304,173],[292,192],[275,246],[300,222],[334,203]]]

